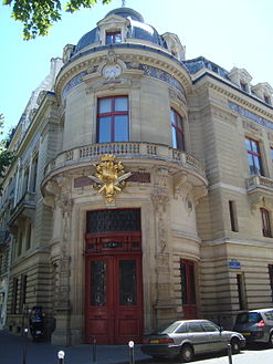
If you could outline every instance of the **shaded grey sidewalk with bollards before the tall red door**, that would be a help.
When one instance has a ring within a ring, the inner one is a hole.
[[[0,364],[24,364],[23,351],[27,349],[25,364],[56,364],[57,352],[64,351],[64,364],[93,364],[93,345],[57,346],[50,343],[33,343],[31,339],[0,331]],[[135,345],[135,362],[151,364],[150,356],[144,355]],[[97,345],[96,364],[129,363],[128,345]]]

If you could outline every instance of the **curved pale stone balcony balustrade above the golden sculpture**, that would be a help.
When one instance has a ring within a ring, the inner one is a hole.
[[[78,164],[96,163],[103,154],[113,154],[124,159],[157,159],[176,163],[206,178],[203,166],[191,155],[166,145],[133,142],[93,144],[63,152],[46,166],[44,175],[46,177],[61,169],[78,167]]]

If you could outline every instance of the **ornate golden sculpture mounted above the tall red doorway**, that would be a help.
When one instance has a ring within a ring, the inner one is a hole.
[[[132,173],[125,173],[120,162],[115,163],[115,156],[105,154],[101,157],[101,163],[95,165],[96,175],[88,176],[94,180],[93,187],[103,195],[108,202],[116,198],[116,194],[120,193],[126,186],[127,179]]]

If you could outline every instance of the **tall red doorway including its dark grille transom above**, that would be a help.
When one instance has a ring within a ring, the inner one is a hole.
[[[87,212],[85,336],[99,344],[140,342],[143,277],[140,210]]]

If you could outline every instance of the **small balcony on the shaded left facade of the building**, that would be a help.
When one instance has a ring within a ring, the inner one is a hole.
[[[22,217],[33,218],[35,211],[35,193],[25,193],[23,197],[12,208],[9,226],[15,225],[17,219]]]

